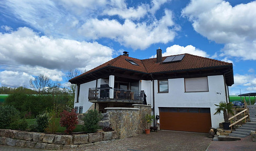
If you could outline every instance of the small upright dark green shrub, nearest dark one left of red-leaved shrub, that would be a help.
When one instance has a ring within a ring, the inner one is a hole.
[[[36,130],[38,132],[45,132],[45,128],[48,126],[49,120],[48,120],[48,114],[40,114],[37,115],[36,118]]]

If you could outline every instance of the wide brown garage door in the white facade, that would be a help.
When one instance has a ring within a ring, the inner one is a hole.
[[[159,107],[161,130],[208,133],[210,108]]]

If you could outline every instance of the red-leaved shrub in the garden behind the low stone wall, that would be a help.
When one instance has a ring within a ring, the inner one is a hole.
[[[78,124],[77,113],[72,109],[71,112],[64,110],[60,113],[60,126],[66,127],[65,132],[71,134],[76,125]]]

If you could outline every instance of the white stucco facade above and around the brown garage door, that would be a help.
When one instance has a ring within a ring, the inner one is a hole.
[[[223,75],[213,75],[207,78],[209,88],[207,92],[185,92],[184,78],[178,78],[168,79],[168,93],[158,93],[158,83],[154,80],[155,115],[159,115],[159,107],[207,107],[210,108],[212,127],[219,127],[218,124],[223,122],[223,116],[222,114],[214,115],[216,109],[214,104],[219,104],[220,101],[226,102],[226,84]],[[146,82],[143,82],[142,90],[149,89],[150,84],[144,83]],[[147,95],[147,98],[152,97]]]

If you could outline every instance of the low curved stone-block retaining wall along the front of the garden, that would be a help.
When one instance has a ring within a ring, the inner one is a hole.
[[[108,143],[117,138],[117,131],[74,135],[56,135],[0,129],[0,145],[37,149],[81,148],[99,143]]]

